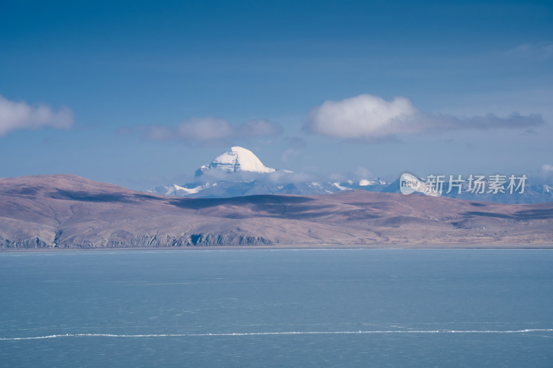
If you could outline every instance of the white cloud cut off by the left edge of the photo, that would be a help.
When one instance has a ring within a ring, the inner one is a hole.
[[[24,101],[10,101],[0,95],[0,136],[16,129],[70,128],[73,112],[65,106],[54,111],[49,106],[30,106]]]

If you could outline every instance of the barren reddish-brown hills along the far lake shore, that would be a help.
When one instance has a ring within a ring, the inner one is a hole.
[[[0,178],[0,249],[279,244],[551,247],[553,203],[358,190],[181,198],[75,175]]]

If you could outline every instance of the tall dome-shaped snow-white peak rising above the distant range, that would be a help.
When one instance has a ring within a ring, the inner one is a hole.
[[[205,173],[211,168],[236,173],[238,171],[250,171],[252,173],[273,173],[274,168],[263,165],[256,155],[246,148],[234,146],[223,155],[215,157],[211,164],[202,166],[196,172],[196,176]]]

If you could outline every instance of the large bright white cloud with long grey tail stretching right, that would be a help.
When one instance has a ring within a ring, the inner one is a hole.
[[[456,117],[424,113],[406,97],[386,101],[378,96],[359,95],[341,101],[326,101],[313,108],[303,128],[308,133],[327,137],[370,141],[431,130],[528,128],[541,124],[541,115],[512,113],[509,117],[494,114]]]

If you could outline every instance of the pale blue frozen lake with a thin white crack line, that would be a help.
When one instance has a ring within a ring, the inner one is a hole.
[[[0,367],[552,367],[553,251],[0,253]]]

